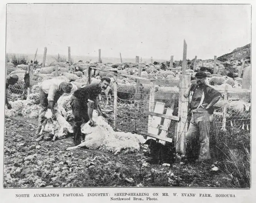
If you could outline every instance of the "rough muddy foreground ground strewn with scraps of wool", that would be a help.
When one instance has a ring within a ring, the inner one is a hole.
[[[4,187],[230,187],[212,163],[189,163],[175,155],[170,165],[152,163],[148,149],[118,154],[76,149],[72,137],[34,141],[36,119],[6,118]]]

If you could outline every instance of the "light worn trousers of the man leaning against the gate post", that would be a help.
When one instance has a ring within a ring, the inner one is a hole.
[[[213,115],[209,114],[205,108],[192,110],[192,118],[186,134],[188,158],[195,158],[198,154],[199,161],[211,158],[209,132],[212,121]],[[200,143],[200,152],[196,148],[198,141]]]

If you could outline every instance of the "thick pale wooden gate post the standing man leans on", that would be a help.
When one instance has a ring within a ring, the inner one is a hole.
[[[188,102],[189,97],[185,98],[184,93],[190,84],[190,75],[181,75],[179,80],[179,110],[178,116],[180,120],[177,126],[177,134],[175,139],[176,152],[186,153],[186,132],[188,131]]]

